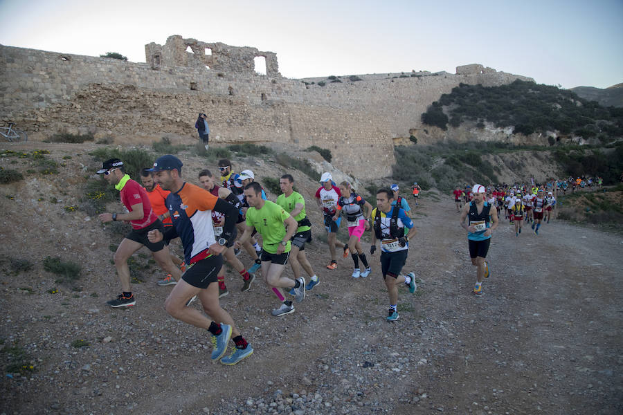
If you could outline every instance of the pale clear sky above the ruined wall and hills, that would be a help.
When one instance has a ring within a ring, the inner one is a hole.
[[[170,35],[277,53],[290,78],[483,64],[563,88],[623,82],[623,0],[0,0],[0,44],[145,62]]]

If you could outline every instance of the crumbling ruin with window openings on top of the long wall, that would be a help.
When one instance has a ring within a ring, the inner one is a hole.
[[[264,57],[266,68],[255,67],[256,57]],[[248,46],[229,46],[222,43],[201,42],[197,39],[183,39],[180,35],[168,37],[164,46],[154,42],[146,44],[145,62],[156,70],[168,66],[188,66],[249,75],[257,75],[265,70],[269,77],[281,77],[276,53]]]

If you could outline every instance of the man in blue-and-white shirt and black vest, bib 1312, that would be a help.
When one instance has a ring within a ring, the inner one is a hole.
[[[415,235],[413,221],[399,206],[392,206],[394,194],[390,189],[377,191],[377,207],[371,212],[374,218],[372,246],[370,255],[377,250],[377,240],[381,241],[381,274],[385,281],[390,300],[388,322],[398,320],[398,286],[408,286],[409,293],[415,293],[415,274],[401,275],[408,255],[409,239]],[[405,235],[404,228],[408,228]]]

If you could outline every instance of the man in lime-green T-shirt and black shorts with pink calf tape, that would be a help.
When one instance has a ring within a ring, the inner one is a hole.
[[[280,205],[262,199],[262,186],[258,182],[244,187],[244,196],[249,203],[246,211],[246,228],[236,244],[240,245],[251,237],[253,228],[262,235],[262,275],[273,293],[282,302],[272,315],[285,315],[294,312],[294,304],[285,299],[283,288],[294,288],[294,300],[305,299],[305,278],[292,280],[282,273],[291,249],[290,239],[294,236],[298,223]]]

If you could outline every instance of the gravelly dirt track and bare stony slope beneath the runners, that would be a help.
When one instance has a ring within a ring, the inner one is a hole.
[[[134,284],[136,306],[106,306],[118,291],[109,244],[121,236],[64,210],[97,163],[88,148],[47,146],[59,161],[73,154],[60,174],[0,185],[0,414],[623,412],[620,234],[552,221],[538,236],[524,228],[516,238],[503,221],[485,294],[474,297],[453,200],[425,192],[419,206],[411,203],[418,233],[405,267],[421,282],[415,295],[401,290],[400,319],[388,323],[378,253],[367,279],[350,277],[350,258],[327,270],[328,249],[314,225],[306,252],[321,282],[294,314],[270,315],[276,299],[259,274],[240,293],[242,280],[228,273],[231,294],[222,305],[255,353],[226,367],[210,362],[205,332],[165,313],[170,287],[156,286],[156,268]],[[295,177],[319,223],[316,183]],[[60,203],[46,203],[51,196]],[[42,266],[48,255],[80,263],[80,280],[56,282]],[[33,268],[15,273],[16,258]]]

